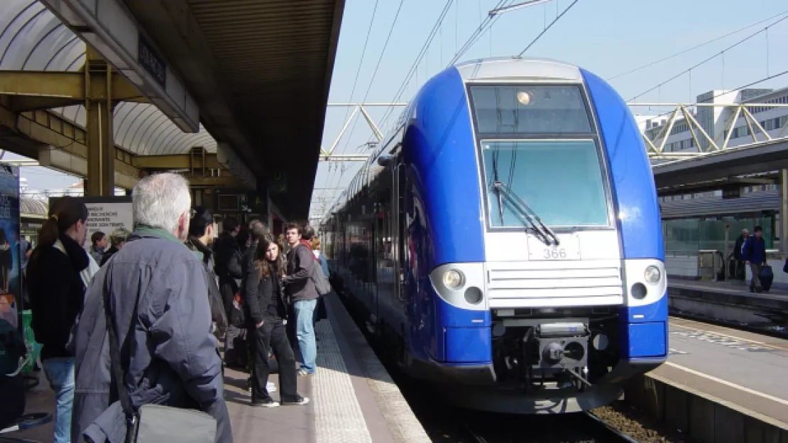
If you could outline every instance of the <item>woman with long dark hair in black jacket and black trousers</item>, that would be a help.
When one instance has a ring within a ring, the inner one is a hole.
[[[279,244],[268,234],[258,241],[255,251],[255,269],[248,276],[246,300],[249,308],[249,340],[252,343],[251,404],[274,408],[268,384],[269,349],[279,364],[279,391],[281,404],[307,404],[309,399],[297,392],[296,357],[284,329],[287,303],[284,302],[281,278],[284,277],[284,255]]]

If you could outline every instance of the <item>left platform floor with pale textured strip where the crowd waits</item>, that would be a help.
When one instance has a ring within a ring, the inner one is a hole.
[[[348,311],[335,294],[326,297],[328,321],[318,322],[318,370],[299,378],[306,406],[253,408],[248,374],[225,370],[225,400],[233,440],[293,443],[400,443],[430,441],[421,423],[392,382]],[[28,391],[27,413],[54,412],[46,378]],[[269,378],[277,387],[276,374]],[[278,400],[278,391],[273,398]],[[53,424],[2,437],[52,441]],[[2,440],[0,437],[0,441]]]

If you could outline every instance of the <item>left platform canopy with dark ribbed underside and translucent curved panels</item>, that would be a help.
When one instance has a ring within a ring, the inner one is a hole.
[[[0,69],[82,67],[83,38],[90,29],[64,24],[62,11],[47,9],[53,2],[2,3]],[[189,133],[154,104],[121,102],[114,110],[117,146],[132,154],[165,155],[195,146],[215,152],[218,141],[245,162],[260,184],[271,177],[284,184],[272,199],[288,218],[306,218],[344,0],[97,4],[125,8],[139,35],[158,51],[199,109],[199,132]],[[56,111],[84,125],[84,106]]]

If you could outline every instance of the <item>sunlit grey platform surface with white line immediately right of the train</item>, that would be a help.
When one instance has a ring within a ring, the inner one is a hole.
[[[788,341],[671,318],[669,346],[652,374],[788,426]]]

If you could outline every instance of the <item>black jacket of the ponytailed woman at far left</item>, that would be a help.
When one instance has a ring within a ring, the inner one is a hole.
[[[65,348],[76,316],[82,311],[85,285],[80,272],[87,268],[87,251],[69,236],[54,246],[35,248],[28,262],[28,294],[35,341],[43,344],[41,358],[70,357]]]

